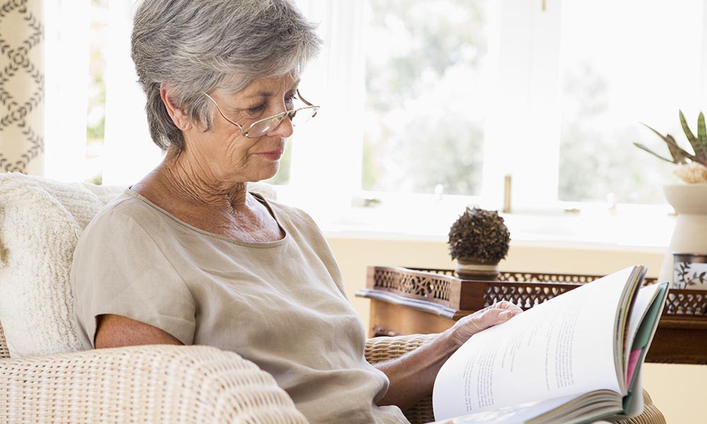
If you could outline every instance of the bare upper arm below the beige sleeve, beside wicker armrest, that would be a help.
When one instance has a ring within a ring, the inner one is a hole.
[[[135,321],[122,315],[98,315],[95,348],[121,348],[146,344],[181,345],[175,336],[156,326]]]

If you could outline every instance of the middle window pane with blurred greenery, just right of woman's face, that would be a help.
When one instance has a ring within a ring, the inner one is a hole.
[[[479,194],[485,1],[368,2],[364,190]]]

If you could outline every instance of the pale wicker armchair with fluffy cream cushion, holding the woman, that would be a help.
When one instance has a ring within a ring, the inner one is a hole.
[[[23,324],[28,311],[39,315],[42,323],[61,318],[66,321],[66,315],[70,314],[65,308],[42,309],[28,298],[13,299],[12,293],[24,294],[25,288],[34,285],[30,280],[38,279],[37,275],[44,276],[37,285],[49,285],[52,290],[59,287],[56,293],[69,290],[68,269],[78,235],[93,213],[112,196],[115,192],[81,184],[0,174],[0,242],[4,244],[0,245],[0,301],[5,302],[0,302],[0,317],[5,320],[10,341],[11,328],[18,338],[23,331],[37,332]],[[67,220],[61,225],[47,218],[52,208],[64,213],[62,217]],[[28,218],[25,216],[28,209],[37,213]],[[37,220],[44,221],[37,224]],[[18,232],[17,228],[25,225],[25,221],[32,224],[32,229]],[[45,239],[54,240],[66,233],[70,236],[64,237],[62,243],[46,244]],[[25,273],[20,275],[13,270],[23,266],[21,262],[27,259],[30,247],[35,251],[39,247],[42,257],[25,264]],[[50,254],[44,254],[50,250]],[[23,287],[15,290],[18,286]],[[54,302],[54,298],[49,300]],[[54,303],[66,306],[66,302],[64,299]],[[14,307],[15,316],[3,310],[2,305],[8,309]],[[59,341],[61,345],[64,338],[69,338],[59,331],[54,333],[57,334],[41,332],[40,341]],[[378,363],[397,358],[434,336],[370,339],[366,343],[366,359]],[[233,352],[207,346],[156,345],[76,351],[78,345],[71,343],[59,348],[57,343],[44,345],[49,346],[40,350],[44,353],[10,358],[10,352],[18,345],[11,343],[8,349],[0,322],[0,423],[307,422],[271,375]],[[644,395],[644,413],[630,422],[665,423],[660,411],[645,392]],[[431,396],[405,414],[412,423],[433,421]]]

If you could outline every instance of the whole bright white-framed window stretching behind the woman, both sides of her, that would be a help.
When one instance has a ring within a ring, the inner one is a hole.
[[[508,175],[518,214],[665,205],[672,168],[633,146],[665,151],[641,122],[686,145],[677,110],[691,124],[707,112],[707,0],[296,1],[325,40],[300,85],[322,109],[270,182],[320,223],[413,228],[466,204],[500,209]],[[105,184],[160,160],[129,59],[133,3],[47,2],[51,177],[95,176],[86,136]]]

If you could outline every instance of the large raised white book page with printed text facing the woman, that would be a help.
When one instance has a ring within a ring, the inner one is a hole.
[[[469,338],[438,374],[435,418],[600,389],[621,393],[614,360],[617,311],[636,270],[575,288]]]

